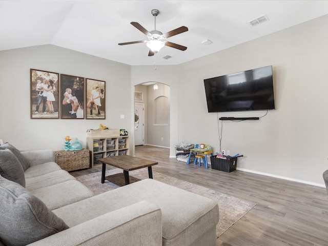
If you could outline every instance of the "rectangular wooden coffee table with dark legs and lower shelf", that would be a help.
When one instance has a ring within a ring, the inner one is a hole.
[[[129,176],[129,171],[140,168],[148,168],[149,178],[153,178],[152,166],[158,164],[158,162],[153,160],[141,159],[130,155],[116,155],[97,159],[97,161],[103,163],[103,168],[101,169],[101,183],[105,183],[105,179],[107,179],[119,186],[125,186],[129,185],[130,182],[133,183],[139,181],[140,179]],[[105,177],[106,165],[123,169],[123,173],[117,173]]]

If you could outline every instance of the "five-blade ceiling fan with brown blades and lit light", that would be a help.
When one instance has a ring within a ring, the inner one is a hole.
[[[131,44],[139,44],[139,43],[147,43],[147,47],[150,49],[148,56],[152,56],[156,54],[162,47],[168,46],[171,48],[175,48],[178,50],[187,50],[186,46],[178,45],[175,43],[168,42],[166,39],[172,36],[175,36],[177,34],[180,34],[182,32],[187,32],[188,28],[185,26],[179,27],[177,29],[174,29],[167,33],[162,33],[158,30],[156,30],[156,16],[159,14],[158,9],[152,10],[152,15],[155,17],[155,30],[153,31],[147,31],[144,27],[142,27],[137,22],[131,22],[131,25],[137,28],[142,33],[146,34],[148,37],[148,40],[139,40],[139,41],[133,41],[133,42],[127,42],[127,43],[119,43],[118,45],[131,45]]]

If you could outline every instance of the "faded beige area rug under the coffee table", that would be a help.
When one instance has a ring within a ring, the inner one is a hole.
[[[121,169],[106,170],[106,176],[121,173]],[[130,176],[146,179],[148,178],[147,169],[138,169],[129,172]],[[216,226],[216,235],[219,237],[222,233],[227,231],[234,223],[236,223],[242,216],[249,212],[256,204],[233,197],[227,194],[220,193],[202,186],[195,185],[193,183],[183,181],[178,178],[174,178],[168,175],[164,175],[153,171],[153,178],[155,180],[167,183],[168,185],[190,191],[205,197],[209,197],[217,201],[220,210],[220,220]],[[78,181],[88,187],[95,195],[113,190],[119,186],[115,185],[108,180],[105,183],[101,183],[101,172],[87,174],[76,177]]]

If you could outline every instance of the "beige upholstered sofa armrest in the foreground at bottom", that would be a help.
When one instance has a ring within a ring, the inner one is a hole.
[[[162,245],[161,210],[140,201],[29,244],[44,245]]]

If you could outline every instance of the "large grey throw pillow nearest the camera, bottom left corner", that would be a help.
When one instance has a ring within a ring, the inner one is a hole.
[[[45,203],[0,176],[0,238],[5,245],[26,245],[68,229]]]

